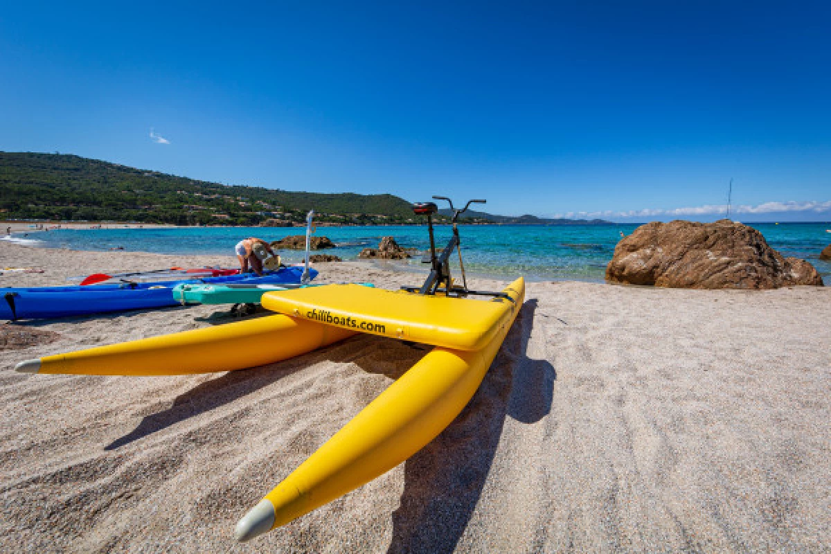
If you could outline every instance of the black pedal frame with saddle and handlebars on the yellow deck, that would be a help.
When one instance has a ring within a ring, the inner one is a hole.
[[[419,215],[427,216],[427,230],[430,233],[430,275],[427,276],[425,282],[420,287],[401,287],[407,292],[418,292],[419,294],[435,295],[437,292],[444,293],[448,297],[466,297],[469,295],[507,298],[513,302],[513,298],[509,297],[504,292],[488,292],[488,291],[471,291],[467,287],[467,277],[465,276],[465,264],[462,262],[461,237],[459,235],[459,226],[456,220],[462,213],[465,213],[470,208],[471,203],[485,203],[486,200],[468,200],[465,208],[456,209],[453,207],[453,201],[445,196],[434,196],[436,200],[447,200],[450,203],[450,209],[453,211],[453,237],[447,243],[445,249],[439,256],[435,255],[435,239],[433,237],[433,213],[438,211],[435,203],[416,203],[413,205],[413,211]],[[462,272],[462,285],[454,286],[453,279],[450,277],[450,256],[453,251],[459,252],[459,267]],[[442,287],[444,285],[444,287]]]

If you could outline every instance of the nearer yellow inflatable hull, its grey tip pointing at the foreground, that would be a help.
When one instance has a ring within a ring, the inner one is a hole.
[[[509,318],[479,351],[437,346],[323,444],[238,522],[247,541],[292,521],[410,458],[473,397],[524,301],[522,278],[504,290]],[[337,329],[338,327],[332,327]]]

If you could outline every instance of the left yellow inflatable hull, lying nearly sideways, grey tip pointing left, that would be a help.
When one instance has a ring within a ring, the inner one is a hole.
[[[243,370],[287,360],[354,334],[275,315],[50,355],[23,361],[16,369],[80,375],[189,375]]]

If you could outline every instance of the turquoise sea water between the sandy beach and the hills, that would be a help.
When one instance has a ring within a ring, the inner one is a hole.
[[[801,257],[817,267],[831,285],[831,263],[821,262],[819,252],[831,243],[831,223],[748,223],[765,235],[770,246],[784,256]],[[602,282],[620,232],[629,234],[637,224],[620,225],[464,225],[460,226],[465,269],[471,273],[509,278],[524,275],[529,280],[579,280]],[[109,250],[164,254],[207,253],[234,255],[234,244],[250,236],[277,240],[304,233],[303,228],[108,228],[15,233],[11,240],[46,248]],[[435,228],[436,246],[444,247],[450,226]],[[381,237],[391,235],[402,247],[429,248],[426,226],[320,227],[317,236],[327,236],[337,248],[327,253],[354,259],[362,248],[377,247]],[[303,252],[284,251],[289,262],[299,262]],[[410,262],[423,268],[420,257]],[[106,269],[106,268],[102,268]]]

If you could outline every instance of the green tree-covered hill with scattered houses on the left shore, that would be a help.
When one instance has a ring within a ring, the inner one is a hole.
[[[76,155],[0,152],[3,218],[253,225],[304,221],[312,208],[322,221],[416,223],[411,203],[392,194],[224,185]]]

